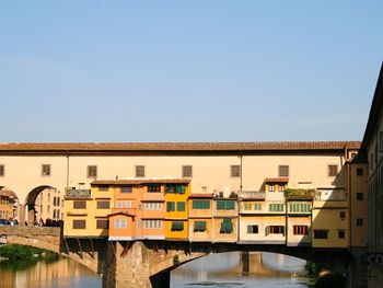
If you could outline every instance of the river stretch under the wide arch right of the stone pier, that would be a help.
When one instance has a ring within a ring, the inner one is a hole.
[[[245,257],[240,252],[211,254],[174,269],[171,287],[309,287],[299,277],[304,264],[274,253],[249,252]]]

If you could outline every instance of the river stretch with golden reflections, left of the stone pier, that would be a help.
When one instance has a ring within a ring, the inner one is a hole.
[[[101,287],[101,277],[69,258],[56,262],[0,262],[0,284],[2,288]]]

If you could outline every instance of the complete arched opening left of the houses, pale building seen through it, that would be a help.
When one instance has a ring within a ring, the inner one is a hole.
[[[25,198],[27,226],[60,226],[61,217],[57,214],[61,194],[56,187],[42,185],[33,188]]]

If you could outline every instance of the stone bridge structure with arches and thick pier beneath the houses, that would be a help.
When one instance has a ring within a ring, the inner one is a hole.
[[[347,250],[281,244],[65,239],[61,228],[48,227],[0,227],[0,235],[5,235],[8,243],[46,249],[69,257],[101,274],[105,288],[166,288],[172,269],[211,253],[272,252],[321,263],[341,274],[347,273],[351,260]],[[244,265],[248,267],[248,263]]]

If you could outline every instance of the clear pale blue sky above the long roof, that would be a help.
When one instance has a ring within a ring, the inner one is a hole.
[[[1,142],[361,140],[383,1],[1,1]]]

